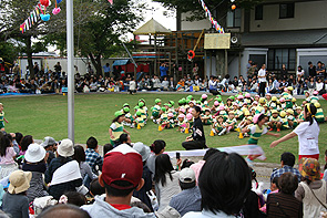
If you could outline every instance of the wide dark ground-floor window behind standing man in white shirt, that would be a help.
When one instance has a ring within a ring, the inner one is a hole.
[[[295,49],[269,49],[267,69],[269,71],[279,71],[283,64],[288,71],[296,70]]]

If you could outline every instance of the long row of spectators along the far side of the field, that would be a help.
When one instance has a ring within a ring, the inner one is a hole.
[[[14,66],[16,68],[16,66]],[[34,65],[34,77],[20,77],[16,70],[12,69],[11,76],[1,74],[0,92],[19,92],[19,93],[62,93],[67,92],[68,79],[67,73],[62,72],[60,63],[54,65],[54,71],[49,70],[44,73],[39,70],[38,64]],[[91,65],[90,65],[91,68]],[[104,75],[96,75],[91,70],[83,75],[75,74],[75,92],[130,92],[137,91],[170,91],[170,92],[259,92],[258,68],[249,61],[247,65],[247,75],[231,77],[229,74],[224,77],[210,76],[201,77],[197,73],[198,66],[191,74],[185,74],[178,80],[176,76],[167,74],[167,65],[160,66],[161,76],[142,74],[134,77],[133,73],[111,72],[109,64],[103,66]],[[123,71],[122,71],[123,72]],[[317,91],[323,95],[327,91],[327,73],[325,64],[321,62],[315,66],[311,62],[308,63],[308,70],[305,71],[298,66],[296,73],[289,73],[283,64],[278,73],[266,72],[266,93],[279,94],[285,87],[293,86],[294,94],[302,95],[305,91],[313,94]]]

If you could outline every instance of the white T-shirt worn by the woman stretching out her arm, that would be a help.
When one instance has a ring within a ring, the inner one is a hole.
[[[320,128],[316,121],[311,125],[309,124],[309,122],[303,122],[293,131],[298,136],[298,155],[319,154],[318,137]]]

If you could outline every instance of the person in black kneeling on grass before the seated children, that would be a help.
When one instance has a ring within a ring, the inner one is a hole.
[[[204,129],[200,114],[201,107],[194,106],[192,110],[192,115],[194,117],[193,132],[191,136],[186,137],[186,142],[182,143],[182,146],[185,149],[202,149],[206,147]]]

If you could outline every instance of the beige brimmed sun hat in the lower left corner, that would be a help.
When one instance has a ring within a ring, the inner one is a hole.
[[[25,191],[30,187],[31,178],[31,172],[23,172],[21,169],[12,172],[9,176],[10,185],[8,187],[8,193],[20,194]]]

